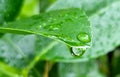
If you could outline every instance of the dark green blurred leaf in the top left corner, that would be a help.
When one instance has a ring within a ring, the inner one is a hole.
[[[0,24],[12,21],[18,15],[23,0],[0,0]]]

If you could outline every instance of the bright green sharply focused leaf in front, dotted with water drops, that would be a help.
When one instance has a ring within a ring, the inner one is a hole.
[[[51,11],[11,22],[0,27],[0,32],[43,35],[58,38],[70,46],[89,46],[91,41],[87,16],[77,8]]]

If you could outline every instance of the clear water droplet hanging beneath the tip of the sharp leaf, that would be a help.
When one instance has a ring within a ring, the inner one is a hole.
[[[72,47],[71,53],[74,56],[82,56],[89,46]]]

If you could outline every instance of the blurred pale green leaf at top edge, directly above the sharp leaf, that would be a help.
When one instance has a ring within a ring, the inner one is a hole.
[[[87,15],[90,16],[95,12],[103,9],[112,3],[119,0],[57,0],[53,5],[51,5],[47,11],[65,9],[65,8],[82,8],[86,11]]]

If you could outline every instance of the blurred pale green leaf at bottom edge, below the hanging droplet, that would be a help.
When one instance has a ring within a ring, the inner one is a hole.
[[[60,63],[58,66],[59,77],[105,77],[99,71],[95,61],[82,63]]]

